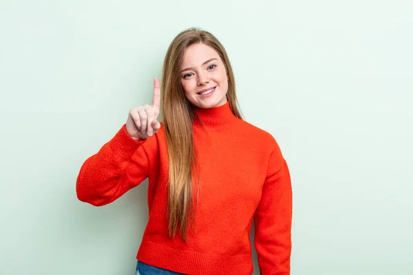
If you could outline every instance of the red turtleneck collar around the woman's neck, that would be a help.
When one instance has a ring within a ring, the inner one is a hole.
[[[229,101],[219,107],[209,109],[193,107],[193,112],[195,113],[195,126],[202,126],[202,123],[196,118],[196,115],[198,115],[205,127],[215,130],[228,128],[231,122],[237,119],[231,110]]]

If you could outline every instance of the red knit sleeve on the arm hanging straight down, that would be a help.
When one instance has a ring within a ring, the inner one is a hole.
[[[278,145],[268,160],[262,198],[255,211],[255,249],[262,275],[289,275],[292,190],[288,166]]]

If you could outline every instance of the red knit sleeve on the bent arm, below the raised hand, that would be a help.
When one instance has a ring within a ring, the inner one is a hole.
[[[124,124],[81,166],[76,179],[78,199],[104,206],[138,186],[148,175],[149,162],[142,146],[146,141],[129,137]]]

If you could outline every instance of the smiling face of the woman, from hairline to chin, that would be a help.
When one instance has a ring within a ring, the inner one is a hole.
[[[218,52],[202,44],[184,51],[180,79],[185,96],[196,107],[219,107],[226,103],[228,77]],[[205,91],[203,94],[200,92]]]

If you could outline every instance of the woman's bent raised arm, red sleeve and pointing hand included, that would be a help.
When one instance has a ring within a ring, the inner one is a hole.
[[[129,111],[125,125],[81,166],[76,180],[79,200],[104,206],[138,186],[148,175],[147,138],[160,129],[160,88],[153,81],[153,100]]]

